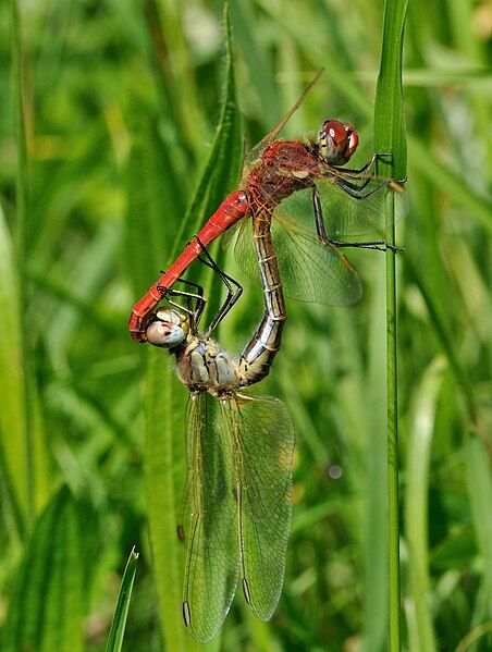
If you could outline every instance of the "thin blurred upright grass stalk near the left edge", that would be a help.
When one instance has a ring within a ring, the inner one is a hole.
[[[23,98],[23,51],[22,25],[16,0],[11,0],[12,22],[12,87],[14,97],[14,131],[17,149],[16,185],[15,185],[15,249],[19,274],[19,305],[21,306],[21,369],[23,373],[24,391],[24,436],[25,436],[25,465],[26,465],[26,518],[27,522],[34,513],[34,435],[30,415],[32,391],[28,373],[28,342],[26,328],[26,222],[28,204],[27,182],[27,146],[25,132],[24,98]]]

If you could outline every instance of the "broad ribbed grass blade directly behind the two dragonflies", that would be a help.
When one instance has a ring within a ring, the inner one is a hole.
[[[190,207],[173,246],[176,255],[186,234],[195,233],[204,218],[217,209],[224,194],[237,182],[241,138],[231,53],[229,4],[224,5],[226,77],[222,110],[213,144]],[[231,158],[232,157],[232,158]],[[209,286],[208,286],[209,287]],[[210,295],[214,296],[217,292]],[[151,347],[149,347],[151,348]],[[150,539],[160,600],[161,624],[170,650],[193,650],[181,616],[184,550],[176,537],[175,512],[184,482],[185,394],[176,391],[169,358],[159,349],[149,350],[146,394],[145,481]],[[208,648],[216,649],[216,643]],[[200,648],[201,649],[201,648]]]

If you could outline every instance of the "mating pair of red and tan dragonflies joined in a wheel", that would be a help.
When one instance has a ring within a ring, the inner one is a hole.
[[[179,378],[190,392],[188,470],[177,529],[187,542],[183,616],[200,642],[221,627],[239,579],[246,601],[262,620],[272,616],[280,599],[291,524],[294,429],[280,401],[251,396],[243,387],[270,371],[286,318],[284,293],[335,306],[358,302],[360,280],[341,249],[384,250],[390,245],[384,239],[339,238],[382,234],[389,194],[396,218],[408,211],[404,182],[374,174],[377,160],[389,155],[374,153],[357,170],[343,168],[358,146],[352,124],[328,120],[318,139],[278,139],[317,78],[248,153],[239,189],[225,198],[134,306],[128,322],[135,341],[176,355]],[[241,287],[217,269],[206,249],[233,231],[236,260],[262,284],[265,297],[261,322],[237,361],[211,333]],[[174,288],[197,258],[216,268],[229,290],[205,333],[198,331],[202,288]],[[176,306],[173,299],[179,297],[185,308]],[[172,308],[159,308],[164,298]]]

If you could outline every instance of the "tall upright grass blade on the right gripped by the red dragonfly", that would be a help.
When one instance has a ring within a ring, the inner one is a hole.
[[[406,134],[403,112],[402,52],[406,0],[386,0],[383,40],[374,106],[374,144],[379,152],[392,152],[381,165],[394,179],[406,174]],[[386,201],[386,241],[395,243],[394,204]],[[396,270],[395,254],[386,253],[386,365],[388,365],[388,497],[390,563],[390,650],[401,649],[399,606],[399,497],[398,497],[398,395],[396,359]]]

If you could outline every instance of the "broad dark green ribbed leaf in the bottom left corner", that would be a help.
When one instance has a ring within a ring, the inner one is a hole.
[[[21,561],[2,631],[4,652],[82,652],[88,591],[83,533],[83,513],[62,487],[35,524]]]

